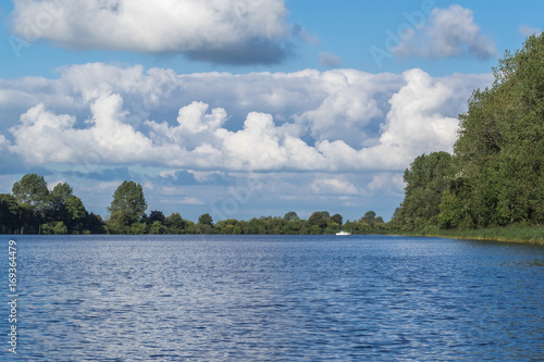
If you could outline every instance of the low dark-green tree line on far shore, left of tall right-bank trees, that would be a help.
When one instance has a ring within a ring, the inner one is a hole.
[[[368,211],[358,221],[343,223],[339,214],[317,211],[308,220],[294,211],[283,217],[261,216],[249,221],[235,219],[217,223],[205,213],[195,223],[177,212],[149,214],[141,185],[123,182],[115,190],[109,219],[87,212],[69,184],[48,189],[44,176],[27,174],[13,184],[12,194],[0,195],[1,234],[334,234],[341,228],[354,234],[384,233],[387,225],[375,212]]]

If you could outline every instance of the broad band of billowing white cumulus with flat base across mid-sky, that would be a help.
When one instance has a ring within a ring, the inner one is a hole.
[[[178,75],[86,64],[54,80],[2,82],[0,109],[24,101],[0,143],[29,165],[337,173],[399,171],[423,152],[452,150],[457,114],[492,76]],[[33,104],[40,93],[50,96]]]

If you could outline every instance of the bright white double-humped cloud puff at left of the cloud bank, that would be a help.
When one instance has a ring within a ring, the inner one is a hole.
[[[90,104],[92,117],[86,122],[90,127],[77,129],[74,116],[57,115],[40,103],[10,129],[15,140],[11,150],[30,165],[84,163],[91,154],[104,164],[145,162],[152,158],[151,140],[123,122],[122,105],[119,95],[97,99]]]

